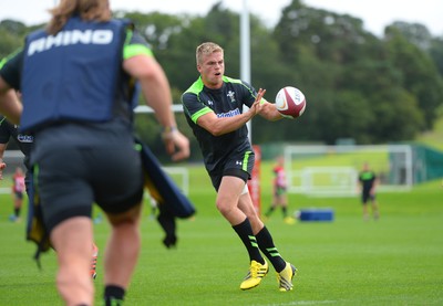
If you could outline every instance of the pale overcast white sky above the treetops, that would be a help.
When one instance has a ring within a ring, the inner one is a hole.
[[[110,0],[113,10],[164,13],[189,13],[204,15],[219,0]],[[281,10],[291,0],[222,0],[223,6],[240,12],[244,6],[264,22],[275,25]],[[14,19],[27,25],[49,20],[48,9],[58,0],[0,0],[0,20]],[[443,36],[442,0],[303,0],[309,7],[336,13],[348,13],[363,20],[367,31],[382,36],[385,25],[393,21],[424,24],[434,36]],[[420,4],[418,4],[420,3]],[[24,9],[25,8],[25,9]]]

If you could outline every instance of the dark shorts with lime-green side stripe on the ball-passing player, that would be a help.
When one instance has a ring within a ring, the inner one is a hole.
[[[236,177],[245,182],[250,179],[255,161],[255,155],[247,151],[239,155],[231,155],[219,166],[209,172],[215,190],[218,191],[223,177]]]

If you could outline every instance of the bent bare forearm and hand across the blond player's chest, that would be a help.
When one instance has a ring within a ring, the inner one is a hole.
[[[209,131],[214,136],[220,136],[234,131],[247,122],[249,122],[255,115],[261,112],[260,99],[265,95],[266,89],[259,89],[256,101],[248,112],[234,117],[218,118],[214,113],[208,113],[198,118],[197,124]]]

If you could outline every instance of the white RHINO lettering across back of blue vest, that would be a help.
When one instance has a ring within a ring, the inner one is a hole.
[[[74,44],[110,44],[114,38],[111,30],[73,30],[62,31],[55,36],[47,36],[35,40],[28,48],[28,56],[44,52],[52,48]]]

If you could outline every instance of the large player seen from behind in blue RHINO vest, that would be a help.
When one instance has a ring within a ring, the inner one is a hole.
[[[92,305],[89,275],[97,203],[111,223],[104,255],[105,305],[120,305],[140,253],[143,199],[131,84],[137,78],[165,128],[174,160],[188,157],[168,81],[132,24],[111,17],[107,0],[61,0],[47,30],[0,71],[0,113],[34,134],[31,166],[45,225],[56,250],[58,289],[66,305]],[[22,92],[23,107],[11,93]],[[23,114],[21,110],[23,109]],[[21,117],[20,117],[21,116]]]

